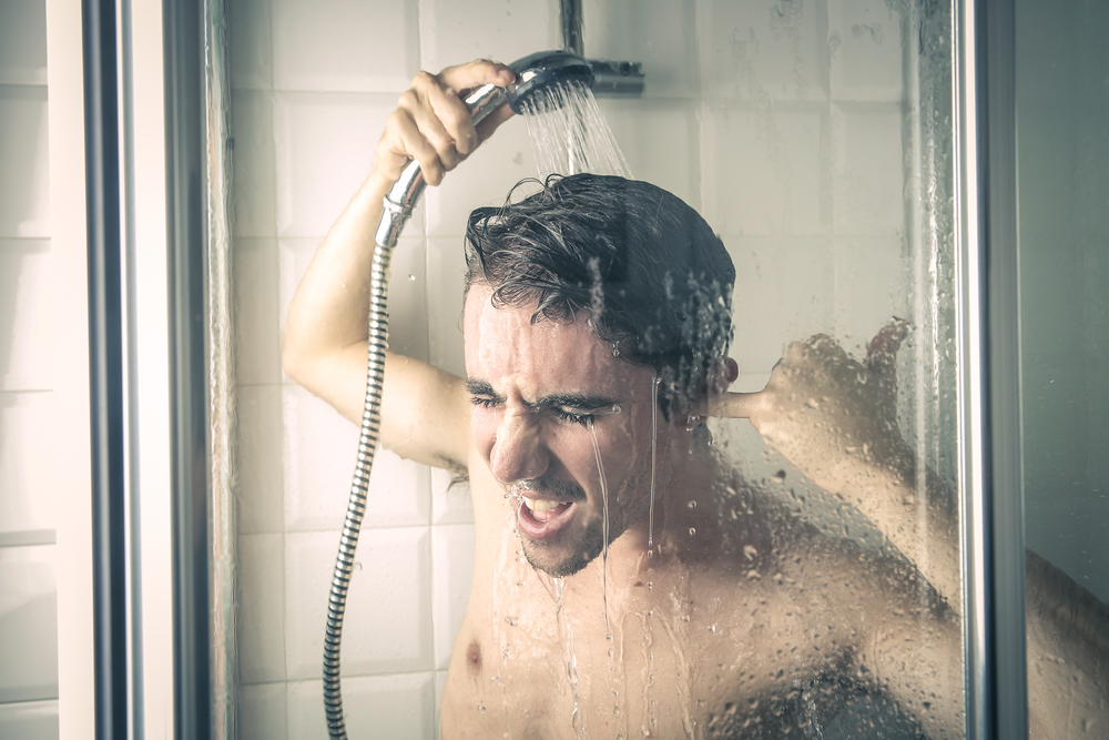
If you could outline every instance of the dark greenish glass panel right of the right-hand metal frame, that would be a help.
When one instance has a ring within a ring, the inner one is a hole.
[[[1105,3],[1016,3],[1029,703],[1060,737],[1109,728],[1107,33]]]

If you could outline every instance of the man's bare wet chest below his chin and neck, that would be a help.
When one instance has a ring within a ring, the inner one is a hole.
[[[513,561],[476,594],[444,737],[455,727],[475,737],[572,738],[581,728],[606,738],[725,737],[714,728],[765,721],[849,643],[807,595],[780,584],[720,594],[682,577],[581,576],[559,599],[557,581]]]

